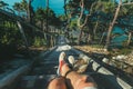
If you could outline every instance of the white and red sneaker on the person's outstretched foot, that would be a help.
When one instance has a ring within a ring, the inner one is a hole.
[[[58,76],[61,76],[62,66],[65,63],[64,58],[65,58],[65,53],[61,52],[60,56],[59,56],[59,67],[58,67],[58,70],[57,70]]]

